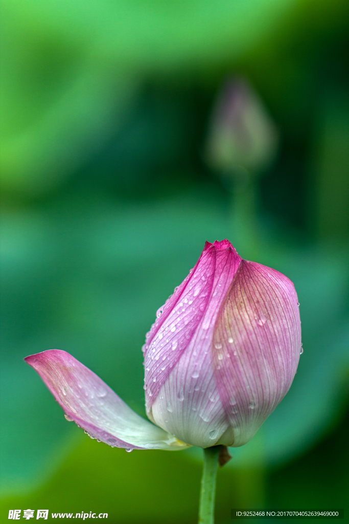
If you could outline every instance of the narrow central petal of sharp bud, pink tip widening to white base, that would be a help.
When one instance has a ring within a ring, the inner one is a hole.
[[[228,243],[217,242],[210,248],[215,268],[201,321],[149,410],[149,418],[156,424],[173,430],[178,439],[185,436],[185,442],[200,447],[215,445],[229,430],[229,419],[213,376],[211,341],[220,305],[241,258],[230,243],[224,242]],[[232,439],[227,438],[230,443]]]

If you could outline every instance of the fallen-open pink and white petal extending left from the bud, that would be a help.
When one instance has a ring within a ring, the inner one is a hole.
[[[40,375],[66,415],[94,438],[131,449],[181,450],[173,435],[135,413],[102,379],[72,355],[48,350],[25,361]]]

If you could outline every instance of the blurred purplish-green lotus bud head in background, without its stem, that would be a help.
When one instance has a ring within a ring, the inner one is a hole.
[[[213,111],[207,160],[227,172],[258,171],[273,157],[278,133],[258,95],[243,79],[223,86]]]

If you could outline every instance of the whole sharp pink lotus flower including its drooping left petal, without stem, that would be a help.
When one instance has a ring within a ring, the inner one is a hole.
[[[205,244],[147,334],[145,405],[156,425],[65,351],[25,360],[91,438],[174,451],[249,441],[286,395],[300,347],[292,282],[223,240]]]

